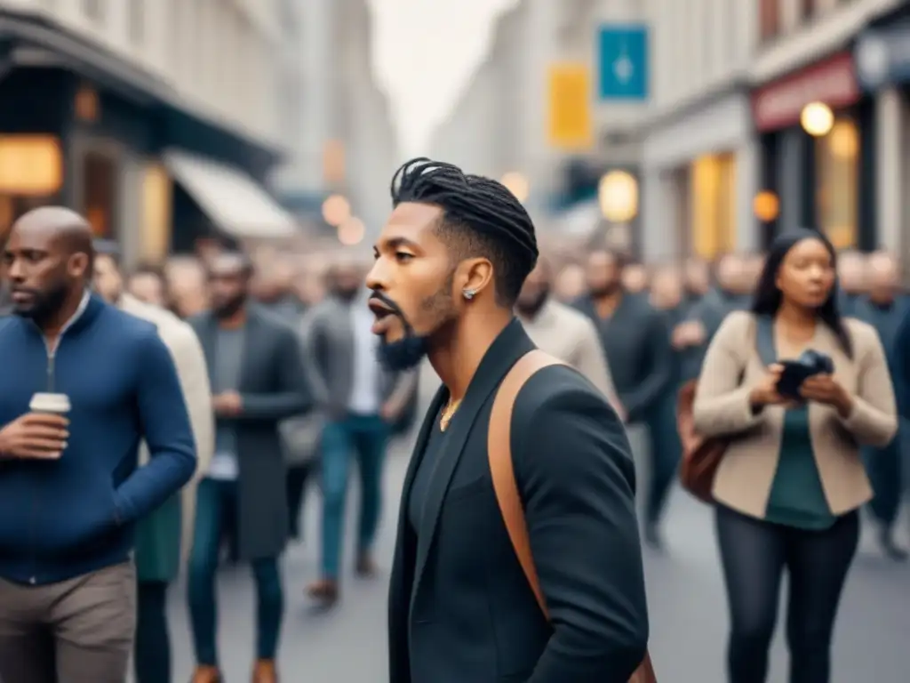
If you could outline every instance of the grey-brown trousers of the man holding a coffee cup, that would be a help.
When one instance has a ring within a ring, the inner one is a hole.
[[[2,683],[124,683],[135,631],[132,562],[48,586],[0,580]]]

